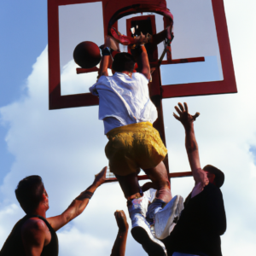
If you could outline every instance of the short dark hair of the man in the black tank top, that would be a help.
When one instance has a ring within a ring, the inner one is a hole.
[[[15,189],[15,195],[20,207],[26,213],[32,212],[38,207],[43,193],[44,183],[42,177],[38,175],[23,178]]]

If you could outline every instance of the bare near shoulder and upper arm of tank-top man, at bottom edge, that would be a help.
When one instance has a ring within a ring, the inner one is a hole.
[[[47,241],[47,232],[49,232],[49,229],[43,220],[30,218],[26,221],[21,230],[21,238],[26,256],[41,255],[44,246],[50,241],[50,239]]]

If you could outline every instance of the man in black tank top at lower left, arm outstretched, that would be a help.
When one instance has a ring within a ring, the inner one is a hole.
[[[94,182],[61,215],[46,218],[49,200],[42,178],[25,177],[15,190],[20,207],[26,212],[4,242],[0,256],[56,256],[58,238],[56,231],[81,214],[95,190],[106,180],[107,167],[99,172]]]

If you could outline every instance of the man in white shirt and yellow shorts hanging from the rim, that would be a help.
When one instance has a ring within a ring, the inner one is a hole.
[[[166,34],[168,36],[168,32]],[[144,47],[148,40],[150,38],[143,34],[137,37],[138,73],[133,73],[136,61],[132,55],[117,53],[113,58],[113,76],[108,76],[111,49],[118,47],[113,38],[107,37],[99,79],[90,87],[90,92],[100,99],[99,119],[103,120],[109,140],[105,153],[110,172],[117,177],[128,200],[131,234],[149,255],[166,255],[163,243],[154,238],[142,212],[138,212],[143,199],[143,189],[137,179],[140,169],[154,183],[157,199],[165,203],[172,200],[166,166],[162,162],[167,149],[152,125],[157,119],[157,110],[148,94],[150,67]]]

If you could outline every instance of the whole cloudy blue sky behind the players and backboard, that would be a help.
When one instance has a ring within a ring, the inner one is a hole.
[[[224,255],[253,255],[256,3],[224,0],[224,5],[239,92],[166,99],[166,140],[171,172],[189,171],[183,128],[172,118],[172,111],[181,101],[188,102],[191,113],[201,113],[195,123],[201,165],[218,166],[226,177],[222,188],[228,218],[228,230],[222,237]],[[64,211],[108,161],[103,150],[107,139],[102,122],[97,120],[97,107],[48,110],[47,1],[2,1],[0,19],[1,247],[24,214],[14,195],[21,178],[31,174],[44,178],[50,202],[48,216],[53,216]],[[74,85],[81,86],[78,76],[69,75],[71,68],[67,65],[63,69],[63,78],[69,76]],[[93,78],[89,81],[93,83]],[[192,188],[190,177],[172,180],[173,195],[186,197]],[[113,218],[116,209],[126,211],[118,184],[102,186],[85,212],[58,232],[60,255],[84,255],[86,251],[92,255],[110,254],[117,231]],[[129,235],[126,255],[138,255],[137,252],[146,255]]]

